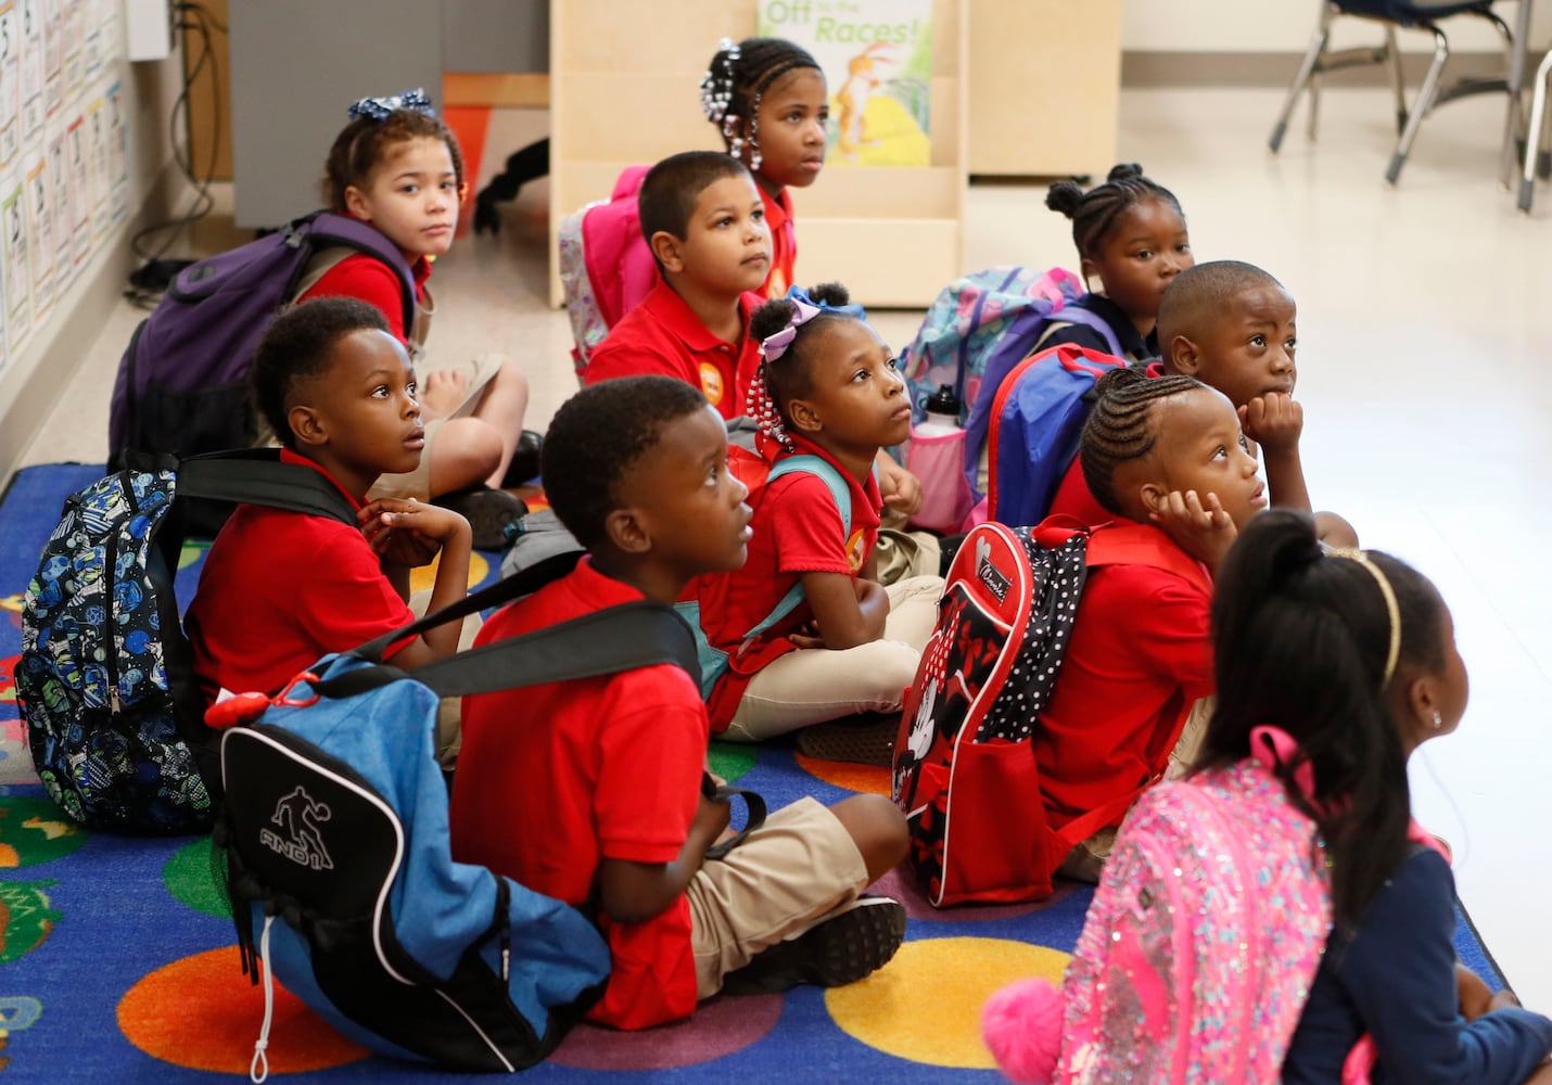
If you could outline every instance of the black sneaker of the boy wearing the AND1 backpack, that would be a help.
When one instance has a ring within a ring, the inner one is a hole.
[[[729,972],[728,995],[774,995],[809,983],[843,987],[872,975],[894,956],[905,939],[905,906],[864,893],[832,911],[798,938],[778,942]]]

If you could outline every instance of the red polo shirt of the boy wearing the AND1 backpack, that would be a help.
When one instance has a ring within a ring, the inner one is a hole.
[[[641,598],[582,559],[568,576],[492,615],[475,643]],[[580,905],[604,858],[678,858],[700,795],[706,706],[689,675],[660,664],[466,697],[462,744],[453,857]],[[688,897],[641,924],[615,924],[602,910],[598,922],[613,964],[591,1020],[644,1029],[695,1009]]]

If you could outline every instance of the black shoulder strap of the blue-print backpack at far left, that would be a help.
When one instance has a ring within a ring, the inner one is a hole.
[[[133,453],[126,453],[124,463],[144,469],[146,461],[137,466]],[[355,526],[355,509],[340,487],[306,464],[281,463],[279,449],[206,452],[183,461],[163,458],[161,466],[177,472],[177,497],[264,504]]]

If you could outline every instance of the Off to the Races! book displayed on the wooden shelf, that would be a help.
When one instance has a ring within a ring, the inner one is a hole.
[[[760,0],[759,34],[824,70],[826,163],[931,165],[933,0]]]

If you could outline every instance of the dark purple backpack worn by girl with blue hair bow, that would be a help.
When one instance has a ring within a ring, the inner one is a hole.
[[[307,262],[341,245],[397,272],[411,328],[414,276],[399,247],[365,222],[315,211],[178,273],[118,363],[109,453],[191,456],[253,444],[247,380],[259,337],[296,295]]]

